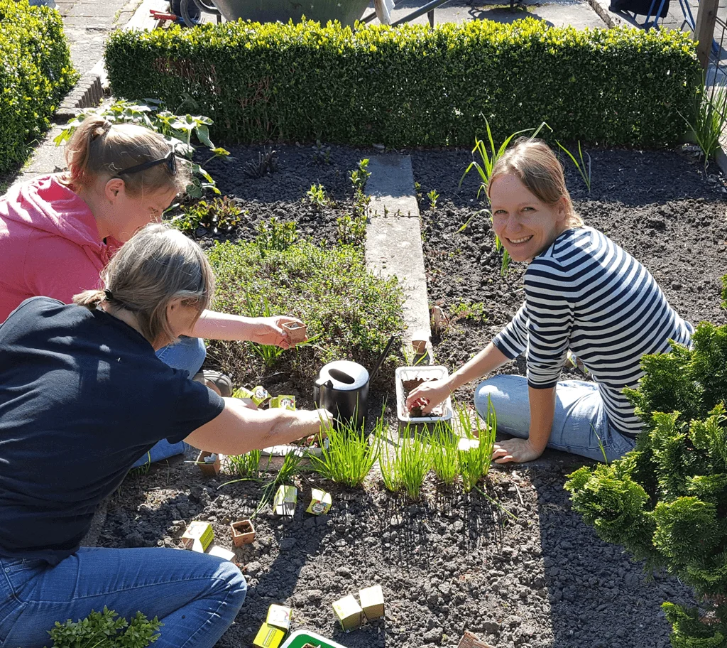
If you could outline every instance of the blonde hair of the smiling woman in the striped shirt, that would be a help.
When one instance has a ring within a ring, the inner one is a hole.
[[[583,227],[583,219],[577,215],[566,188],[566,178],[555,153],[542,140],[519,137],[515,145],[508,148],[492,167],[487,183],[487,197],[490,197],[492,183],[502,175],[515,175],[530,193],[541,202],[554,205],[561,198],[566,199],[566,220],[568,228]]]

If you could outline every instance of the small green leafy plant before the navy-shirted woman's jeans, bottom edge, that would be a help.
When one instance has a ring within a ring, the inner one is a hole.
[[[51,648],[146,648],[159,638],[163,623],[157,617],[148,620],[141,612],[129,622],[108,607],[94,610],[78,621],[56,622],[49,631]]]

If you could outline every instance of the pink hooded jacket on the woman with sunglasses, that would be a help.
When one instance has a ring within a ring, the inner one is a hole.
[[[0,198],[0,324],[28,297],[71,303],[100,286],[100,273],[121,247],[102,241],[86,202],[47,175]]]

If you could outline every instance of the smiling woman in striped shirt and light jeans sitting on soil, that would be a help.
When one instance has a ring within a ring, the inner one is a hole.
[[[530,461],[545,447],[595,460],[634,447],[640,421],[623,395],[643,375],[641,358],[688,345],[694,327],[667,303],[646,268],[574,212],[563,168],[545,143],[521,138],[494,166],[487,188],[494,232],[515,261],[528,263],[525,302],[510,324],[443,380],[421,385],[408,403],[425,412],[457,388],[525,353],[527,376],[497,375],[475,391],[485,415],[517,437],[495,444],[497,463]],[[558,381],[571,351],[593,382]]]

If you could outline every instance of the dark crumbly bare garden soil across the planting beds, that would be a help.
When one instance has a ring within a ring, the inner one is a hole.
[[[348,171],[376,154],[332,148],[330,164],[315,164],[310,147],[281,147],[278,172],[248,180],[240,169],[258,152],[236,149],[235,161],[209,165],[222,192],[249,209],[249,222],[233,237],[252,238],[253,221],[278,216],[296,220],[302,233],[334,241],[336,218],[350,204]],[[642,261],[680,314],[695,324],[724,324],[719,278],[727,272],[727,204],[721,180],[705,178],[682,152],[592,156],[590,195],[568,168],[586,223]],[[522,300],[523,270],[513,266],[505,278],[499,275],[485,217],[459,231],[483,206],[475,199],[474,177],[457,186],[470,153],[414,152],[412,158],[421,184],[430,300],[449,313],[459,300],[486,306],[486,321],[453,316],[435,340],[436,360],[453,369],[513,316]],[[302,202],[311,183],[322,183],[341,201],[339,208],[321,217]],[[441,194],[436,209],[426,196],[432,189]],[[283,383],[270,391],[295,388]],[[300,404],[310,407],[310,395],[299,393]],[[471,398],[471,388],[460,396]],[[381,399],[375,395],[372,409]],[[193,459],[192,451],[186,458]],[[257,540],[236,550],[249,593],[218,645],[251,645],[269,605],[282,603],[294,609],[294,629],[311,628],[348,648],[451,648],[465,630],[498,648],[667,647],[670,628],[659,606],[664,600],[690,604],[691,591],[665,575],[647,582],[640,564],[598,540],[571,511],[563,482],[580,463],[551,455],[531,466],[496,467],[483,492],[472,495],[438,489],[430,476],[417,503],[387,493],[377,473],[364,489],[302,476],[294,519],[262,511],[254,519]],[[217,543],[231,548],[228,523],[254,510],[260,488],[223,485],[228,479],[206,479],[195,465],[181,462],[129,476],[108,504],[99,544],[174,547],[185,524],[200,519],[211,521]],[[311,484],[333,494],[325,516],[305,513]],[[332,602],[374,583],[385,593],[385,620],[342,633]]]

